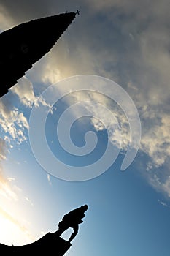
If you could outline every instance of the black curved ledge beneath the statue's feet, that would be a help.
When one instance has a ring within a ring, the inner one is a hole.
[[[55,236],[54,233],[47,233],[32,244],[23,246],[8,246],[0,244],[0,250],[3,255],[44,255],[45,252],[53,253],[55,256],[63,256],[72,246],[68,241]]]

